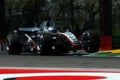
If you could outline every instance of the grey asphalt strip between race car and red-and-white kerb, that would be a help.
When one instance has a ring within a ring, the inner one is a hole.
[[[120,70],[120,58],[76,55],[8,55],[0,52],[0,67],[104,68]]]

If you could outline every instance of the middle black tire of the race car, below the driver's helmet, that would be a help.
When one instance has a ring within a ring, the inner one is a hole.
[[[42,33],[40,38],[40,55],[52,54],[52,36],[50,33]]]

